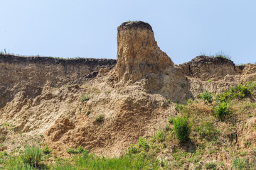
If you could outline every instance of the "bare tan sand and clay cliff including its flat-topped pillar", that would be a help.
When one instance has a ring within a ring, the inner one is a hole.
[[[23,134],[37,135],[28,144],[43,141],[58,153],[81,145],[119,156],[177,115],[175,101],[256,80],[255,65],[241,69],[222,57],[174,64],[148,23],[126,22],[117,29],[117,60],[0,55],[0,121],[14,125],[11,132],[1,130],[6,151],[14,149],[13,140],[26,144]]]

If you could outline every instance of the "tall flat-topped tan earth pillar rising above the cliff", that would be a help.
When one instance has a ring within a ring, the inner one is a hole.
[[[163,72],[173,64],[157,46],[148,23],[126,22],[118,27],[116,71],[119,81],[137,81],[147,74]]]

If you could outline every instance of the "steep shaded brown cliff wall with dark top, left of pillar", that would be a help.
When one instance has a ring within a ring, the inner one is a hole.
[[[102,68],[112,69],[116,60],[0,55],[0,108],[24,91],[28,98],[42,93],[44,86],[60,87]]]

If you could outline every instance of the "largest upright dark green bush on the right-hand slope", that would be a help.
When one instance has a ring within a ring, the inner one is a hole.
[[[189,123],[188,118],[186,116],[177,116],[177,118],[173,120],[173,123],[177,139],[180,142],[188,142],[191,133],[191,124]]]

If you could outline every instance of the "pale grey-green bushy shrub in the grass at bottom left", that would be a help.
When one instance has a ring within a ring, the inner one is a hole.
[[[42,155],[42,151],[39,147],[26,147],[21,158],[24,164],[38,166],[41,163]]]

